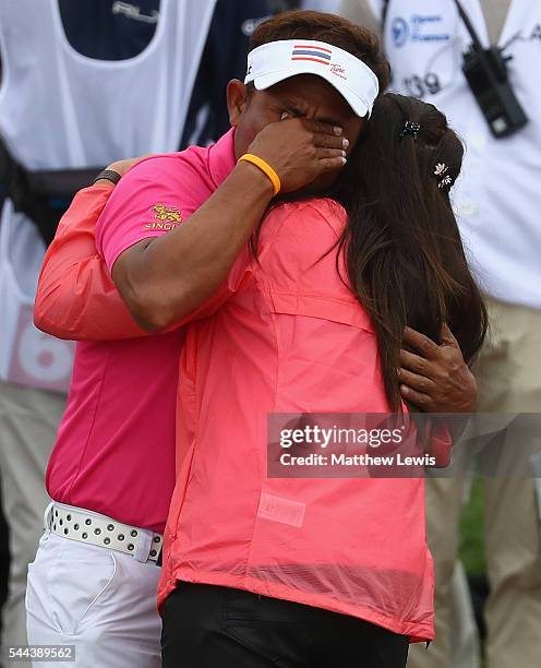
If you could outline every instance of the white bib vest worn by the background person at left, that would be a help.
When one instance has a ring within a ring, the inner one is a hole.
[[[105,61],[65,37],[58,0],[1,0],[0,135],[28,169],[106,166],[178,150],[216,0],[161,0],[153,39]],[[0,222],[0,379],[67,390],[73,348],[33,324],[44,244],[4,203]]]

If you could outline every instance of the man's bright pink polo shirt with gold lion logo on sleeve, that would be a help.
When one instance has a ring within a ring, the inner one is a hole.
[[[233,166],[231,131],[208,148],[191,147],[134,167],[112,192],[96,228],[108,267],[133,243],[181,225]],[[84,301],[81,296],[74,302],[74,320]],[[47,469],[53,500],[163,533],[175,486],[182,343],[183,332],[177,330],[77,344],[68,407]]]

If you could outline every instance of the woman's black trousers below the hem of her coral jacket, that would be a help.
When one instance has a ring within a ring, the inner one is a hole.
[[[404,668],[408,639],[321,608],[181,582],[164,608],[164,668]]]

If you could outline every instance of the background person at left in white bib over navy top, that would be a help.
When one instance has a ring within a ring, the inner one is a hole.
[[[0,476],[12,556],[4,646],[26,643],[26,570],[43,533],[45,467],[73,356],[33,324],[46,243],[73,192],[119,155],[217,136],[219,121],[197,126],[203,107],[218,119],[225,108],[208,62],[196,76],[201,55],[219,62],[212,71],[220,81],[239,75],[252,26],[268,14],[265,0],[1,3]]]

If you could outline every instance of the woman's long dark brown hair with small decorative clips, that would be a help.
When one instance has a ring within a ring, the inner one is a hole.
[[[402,133],[406,121],[420,126],[417,139]],[[405,325],[438,342],[447,323],[468,363],[486,334],[486,310],[449,201],[462,155],[433,105],[388,93],[376,100],[332,193],[348,213],[339,251],[376,330],[393,410],[401,405],[397,368]]]

